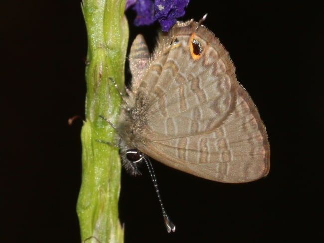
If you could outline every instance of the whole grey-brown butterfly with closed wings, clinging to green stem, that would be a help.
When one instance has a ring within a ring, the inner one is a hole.
[[[152,57],[138,35],[130,68],[132,90],[116,129],[124,164],[135,174],[135,163],[147,156],[217,182],[268,174],[270,147],[258,110],[227,51],[200,22],[175,23]]]

